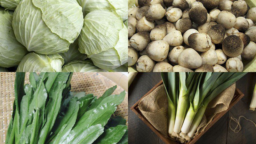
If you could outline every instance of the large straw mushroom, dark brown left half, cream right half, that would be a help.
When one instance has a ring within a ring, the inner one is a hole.
[[[188,44],[198,52],[206,52],[212,47],[211,38],[205,33],[191,34],[188,36]]]

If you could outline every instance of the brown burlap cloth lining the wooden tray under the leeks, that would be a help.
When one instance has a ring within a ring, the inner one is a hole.
[[[209,103],[204,117],[197,128],[196,135],[204,131],[217,113],[228,109],[235,94],[235,89],[236,84],[234,83]],[[164,134],[164,136],[168,137],[168,102],[163,84],[140,100],[139,109],[150,124]]]

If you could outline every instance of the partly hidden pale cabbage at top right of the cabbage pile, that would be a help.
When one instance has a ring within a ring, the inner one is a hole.
[[[123,20],[128,19],[128,0],[77,0],[83,7],[84,16],[95,10],[116,12]]]

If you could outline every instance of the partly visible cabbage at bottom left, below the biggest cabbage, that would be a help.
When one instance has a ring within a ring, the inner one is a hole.
[[[20,62],[17,72],[61,72],[64,64],[59,54],[28,53]]]

